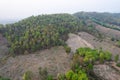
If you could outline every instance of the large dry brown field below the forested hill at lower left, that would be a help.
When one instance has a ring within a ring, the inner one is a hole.
[[[57,76],[58,73],[64,73],[70,69],[69,55],[60,46],[37,51],[34,54],[10,57],[7,63],[0,68],[0,75],[12,80],[22,80],[25,71],[30,70],[37,75],[39,67],[46,67],[50,74]]]

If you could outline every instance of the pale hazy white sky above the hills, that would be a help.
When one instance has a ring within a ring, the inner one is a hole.
[[[0,0],[0,19],[78,11],[120,12],[120,0]]]

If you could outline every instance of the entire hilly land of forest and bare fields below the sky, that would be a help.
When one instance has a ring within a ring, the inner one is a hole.
[[[0,79],[119,80],[119,20],[116,13],[78,12],[0,24]]]

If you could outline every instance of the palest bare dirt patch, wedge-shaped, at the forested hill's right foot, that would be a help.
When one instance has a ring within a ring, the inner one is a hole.
[[[80,36],[76,34],[69,34],[69,39],[66,42],[68,46],[71,47],[72,51],[75,52],[76,49],[80,47],[90,47],[94,48],[90,43],[88,43],[86,40],[82,39]]]

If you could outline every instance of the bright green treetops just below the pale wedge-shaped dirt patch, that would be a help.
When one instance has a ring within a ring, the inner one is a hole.
[[[81,57],[83,58],[83,61],[85,63],[89,63],[89,62],[95,62],[97,60],[99,60],[100,62],[103,63],[104,60],[111,60],[111,53],[110,52],[105,52],[105,51],[99,51],[96,49],[90,49],[90,48],[79,48],[76,51],[77,54],[79,54]]]

